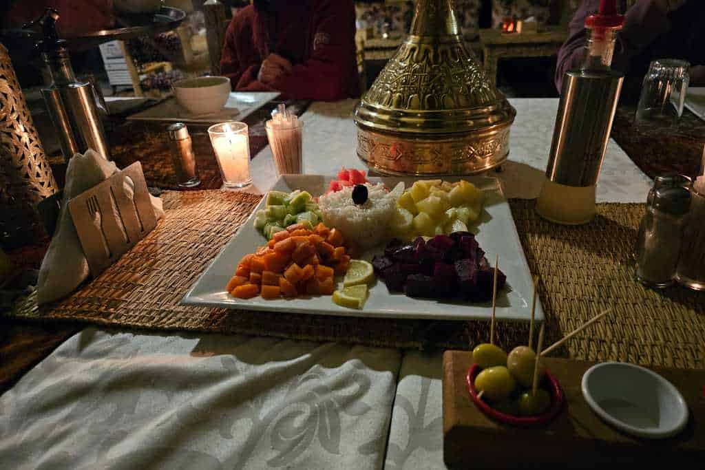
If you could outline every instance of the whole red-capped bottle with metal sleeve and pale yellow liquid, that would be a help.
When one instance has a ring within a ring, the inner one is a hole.
[[[615,0],[601,0],[588,16],[587,57],[563,77],[546,182],[537,211],[556,223],[578,225],[595,216],[595,186],[617,110],[623,73],[610,68],[616,32],[624,25]]]

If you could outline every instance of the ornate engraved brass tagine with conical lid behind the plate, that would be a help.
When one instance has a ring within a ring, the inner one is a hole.
[[[453,0],[417,0],[410,35],[355,108],[379,173],[467,175],[507,159],[515,109],[462,44]]]

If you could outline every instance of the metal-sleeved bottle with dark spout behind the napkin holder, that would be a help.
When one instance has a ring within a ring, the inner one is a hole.
[[[47,8],[32,23],[42,26],[42,39],[37,47],[51,73],[51,85],[42,89],[47,111],[59,135],[66,160],[76,153],[93,149],[109,159],[108,145],[97,105],[98,94],[90,82],[76,80],[66,44],[56,32],[59,12]]]

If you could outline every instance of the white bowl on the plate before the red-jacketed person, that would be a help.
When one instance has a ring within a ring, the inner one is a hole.
[[[174,96],[189,113],[212,114],[225,106],[230,96],[230,79],[227,77],[186,78],[173,82]]]

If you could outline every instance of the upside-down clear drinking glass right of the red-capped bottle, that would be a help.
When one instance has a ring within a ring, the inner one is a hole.
[[[639,98],[637,124],[646,121],[666,125],[678,122],[685,106],[689,68],[687,61],[675,58],[660,58],[651,62]]]

